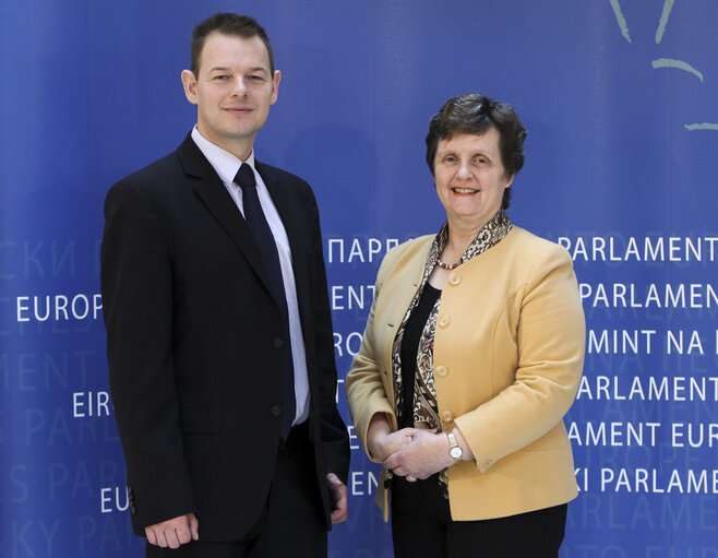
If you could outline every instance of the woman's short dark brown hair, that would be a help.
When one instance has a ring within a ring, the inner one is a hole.
[[[427,134],[427,164],[431,174],[434,174],[440,140],[451,140],[459,134],[482,135],[491,128],[499,132],[499,151],[506,178],[516,175],[524,166],[526,129],[511,105],[480,93],[450,98],[431,119]],[[507,209],[510,201],[511,188],[506,188],[501,209]]]

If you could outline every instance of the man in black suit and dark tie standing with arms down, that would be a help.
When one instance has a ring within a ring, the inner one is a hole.
[[[279,80],[254,20],[198,25],[196,127],[105,202],[110,389],[146,556],[316,558],[347,515],[316,203],[254,159]]]

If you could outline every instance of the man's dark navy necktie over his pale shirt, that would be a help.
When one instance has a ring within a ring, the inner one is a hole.
[[[242,205],[244,206],[244,221],[249,225],[254,241],[256,242],[264,269],[270,277],[272,294],[279,306],[282,322],[284,328],[284,340],[275,340],[275,346],[280,344],[284,349],[285,373],[284,373],[284,411],[282,413],[282,432],[284,440],[289,436],[291,423],[295,419],[297,399],[295,395],[295,366],[291,359],[291,342],[289,336],[289,312],[287,311],[287,297],[284,290],[284,280],[282,277],[282,265],[279,264],[279,254],[277,245],[274,241],[272,229],[266,222],[260,198],[256,194],[256,181],[254,171],[247,163],[242,163],[235,177],[242,188]]]

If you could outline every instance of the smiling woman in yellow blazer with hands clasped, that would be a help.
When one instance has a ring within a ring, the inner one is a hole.
[[[525,136],[506,104],[447,100],[427,136],[446,223],[379,270],[346,390],[397,558],[555,557],[577,494],[584,313],[567,252],[504,213]]]

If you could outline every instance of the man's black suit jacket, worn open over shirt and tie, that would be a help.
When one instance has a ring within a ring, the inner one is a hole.
[[[346,482],[319,212],[307,182],[258,163],[289,237],[326,511]],[[283,339],[259,249],[188,135],[105,202],[101,294],[110,390],[134,531],[194,512],[205,541],[237,538],[266,499],[279,439]],[[319,496],[318,496],[319,497]]]

